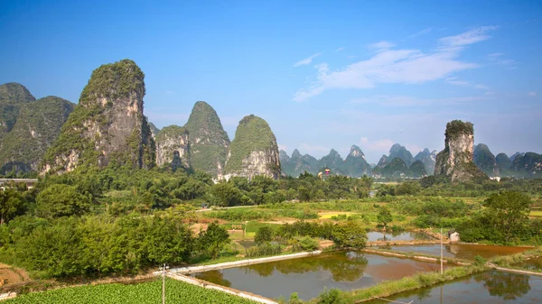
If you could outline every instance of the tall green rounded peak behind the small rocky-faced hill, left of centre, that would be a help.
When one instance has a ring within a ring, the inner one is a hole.
[[[228,157],[229,137],[217,112],[208,103],[198,101],[184,128],[190,134],[192,168],[212,176],[221,175]]]

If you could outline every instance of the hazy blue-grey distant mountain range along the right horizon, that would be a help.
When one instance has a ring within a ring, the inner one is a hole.
[[[405,146],[396,143],[389,149],[388,155],[382,155],[378,164],[369,165],[365,154],[357,145],[352,145],[346,159],[332,149],[328,155],[318,160],[312,155],[302,155],[297,149],[292,156],[280,151],[280,161],[283,175],[293,177],[307,171],[317,174],[330,169],[331,174],[361,177],[363,175],[375,178],[420,178],[433,175],[435,172],[436,151],[425,148],[416,156]],[[512,156],[499,153],[494,156],[486,144],[474,146],[474,164],[490,177],[538,178],[542,176],[542,155],[535,152],[516,152]]]

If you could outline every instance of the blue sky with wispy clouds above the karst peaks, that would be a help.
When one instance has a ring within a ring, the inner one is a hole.
[[[3,1],[0,83],[74,103],[93,69],[131,59],[145,115],[204,100],[229,138],[266,119],[280,149],[444,148],[474,124],[491,152],[542,152],[542,1]]]

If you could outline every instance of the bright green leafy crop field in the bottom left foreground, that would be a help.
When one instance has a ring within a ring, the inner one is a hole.
[[[182,304],[251,304],[248,299],[241,299],[218,290],[206,290],[182,281],[166,279],[166,303]],[[5,304],[159,304],[162,303],[162,281],[122,285],[103,284],[96,286],[79,286],[29,293],[4,301]]]

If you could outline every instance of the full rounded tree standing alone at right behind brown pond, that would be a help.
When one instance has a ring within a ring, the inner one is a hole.
[[[504,232],[506,242],[528,221],[531,205],[528,195],[515,191],[492,194],[483,203],[489,216],[496,221],[494,228]]]

